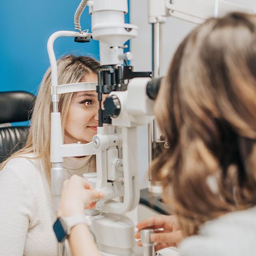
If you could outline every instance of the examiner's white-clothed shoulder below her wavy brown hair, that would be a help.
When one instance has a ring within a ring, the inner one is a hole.
[[[255,256],[256,206],[205,223],[198,236],[184,239],[180,256]]]

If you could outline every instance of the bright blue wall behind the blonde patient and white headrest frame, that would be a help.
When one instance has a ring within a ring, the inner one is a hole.
[[[80,0],[2,1],[0,8],[0,91],[28,91],[37,87],[50,66],[47,40],[58,30],[74,31],[74,14]],[[129,23],[129,15],[125,15]],[[91,32],[88,7],[81,16],[82,30]],[[88,44],[61,37],[55,41],[56,57],[83,54],[99,59],[98,41]]]

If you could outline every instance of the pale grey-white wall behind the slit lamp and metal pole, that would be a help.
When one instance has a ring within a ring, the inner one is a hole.
[[[179,0],[176,0],[179,1]],[[190,1],[190,0],[187,0]],[[207,0],[205,0],[207,1]],[[256,0],[227,0],[256,11]],[[131,40],[134,59],[131,65],[135,71],[152,70],[152,25],[147,23],[147,0],[130,0],[130,23],[139,27],[138,37]],[[162,76],[166,75],[172,56],[182,39],[196,27],[174,17],[167,17],[162,25]],[[140,188],[148,185],[146,174],[148,168],[147,127],[139,130],[139,166]]]

